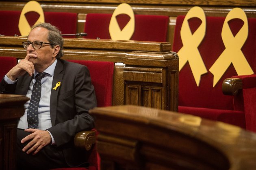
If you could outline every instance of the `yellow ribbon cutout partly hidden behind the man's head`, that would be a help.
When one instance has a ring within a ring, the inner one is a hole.
[[[31,30],[31,27],[25,17],[25,14],[30,12],[30,11],[34,11],[39,13],[40,17],[38,18],[38,20],[35,22],[35,24],[37,23],[43,23],[44,22],[44,14],[43,14],[43,9],[40,6],[40,4],[37,1],[29,1],[28,3],[26,3],[26,5],[23,7],[22,12],[20,14],[20,20],[19,20],[19,30],[20,30],[20,34],[22,36],[28,36],[28,33]]]

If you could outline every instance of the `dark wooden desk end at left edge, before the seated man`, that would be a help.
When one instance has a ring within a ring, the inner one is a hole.
[[[24,114],[29,98],[0,94],[0,169],[16,169],[17,121]]]

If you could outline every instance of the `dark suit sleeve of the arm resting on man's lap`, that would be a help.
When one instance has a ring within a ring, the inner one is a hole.
[[[73,72],[74,73],[74,72]],[[67,108],[74,109],[75,113],[57,113],[63,115],[74,115],[71,119],[57,123],[55,126],[49,128],[56,146],[59,147],[74,140],[77,132],[83,130],[91,130],[94,127],[94,118],[89,114],[89,110],[97,106],[94,87],[91,84],[91,77],[87,67],[82,66],[78,69],[74,80],[74,95],[67,97],[70,100],[70,106]],[[72,81],[72,80],[70,80]],[[73,101],[72,101],[73,100]],[[74,106],[72,106],[74,102]],[[62,109],[61,112],[69,112],[68,109]]]

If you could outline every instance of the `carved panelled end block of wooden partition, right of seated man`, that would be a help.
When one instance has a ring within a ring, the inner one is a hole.
[[[124,57],[124,64],[125,104],[178,110],[175,52],[132,51]]]

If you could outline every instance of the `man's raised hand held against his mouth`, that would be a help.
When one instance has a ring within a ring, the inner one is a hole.
[[[24,60],[21,60],[16,66],[14,66],[8,73],[7,77],[12,81],[15,81],[17,77],[24,75],[26,72],[30,76],[35,72],[34,64],[30,61],[30,57],[36,57],[33,53],[28,53]]]

